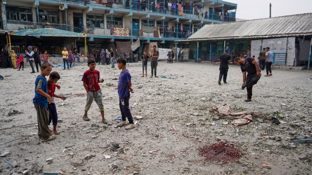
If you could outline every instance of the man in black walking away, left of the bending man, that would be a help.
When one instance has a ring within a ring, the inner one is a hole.
[[[223,83],[227,83],[227,70],[229,69],[228,63],[231,61],[231,56],[228,54],[229,50],[224,50],[224,54],[221,54],[220,61],[220,75],[219,75],[219,85],[221,85],[221,79],[223,76]]]

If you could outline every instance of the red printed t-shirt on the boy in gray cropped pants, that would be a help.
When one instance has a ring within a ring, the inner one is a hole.
[[[93,72],[87,70],[82,76],[81,81],[84,81],[87,84],[87,87],[89,91],[95,92],[100,90],[100,85],[99,85],[99,80],[100,80],[100,72],[97,70],[94,70]]]

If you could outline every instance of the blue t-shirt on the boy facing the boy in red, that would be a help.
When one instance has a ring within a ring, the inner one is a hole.
[[[131,75],[129,70],[126,69],[120,72],[119,82],[118,82],[118,95],[121,99],[126,98],[130,95],[128,82],[131,82]]]

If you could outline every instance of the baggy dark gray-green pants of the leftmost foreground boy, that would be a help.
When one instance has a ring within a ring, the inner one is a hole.
[[[50,133],[48,131],[48,121],[49,121],[49,111],[47,107],[43,107],[34,103],[35,109],[37,111],[37,122],[38,122],[38,136],[42,139],[48,139]]]

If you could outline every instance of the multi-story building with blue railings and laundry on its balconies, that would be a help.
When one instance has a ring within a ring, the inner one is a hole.
[[[237,7],[220,0],[0,1],[4,34],[0,46],[11,46],[17,53],[28,45],[40,46],[41,51],[55,54],[62,47],[84,51],[87,43],[89,52],[90,48],[107,49],[107,43],[138,38],[143,44],[157,42],[171,48],[175,40],[187,39],[206,24],[236,21]]]

